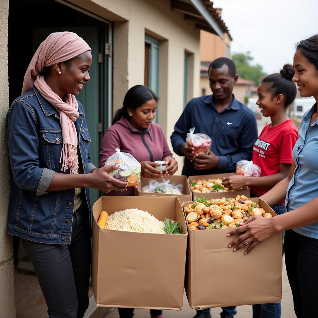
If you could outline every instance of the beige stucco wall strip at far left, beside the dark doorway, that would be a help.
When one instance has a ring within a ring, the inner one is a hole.
[[[0,134],[5,136],[5,115],[8,111],[8,15],[9,0],[0,0],[0,60],[3,65],[0,72]],[[13,251],[12,237],[6,233],[9,174],[8,150],[6,138],[2,139],[0,148],[0,166],[3,173],[0,179],[0,317],[13,318],[16,316],[13,285]]]

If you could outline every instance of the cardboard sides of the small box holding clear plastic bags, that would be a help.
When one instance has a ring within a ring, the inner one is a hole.
[[[149,180],[156,180],[158,182],[162,181],[162,179],[170,180],[170,183],[179,184],[182,183],[183,185],[183,194],[182,195],[175,195],[175,194],[162,194],[162,193],[147,193],[142,192],[141,189],[149,184]],[[143,178],[141,177],[141,180],[137,186],[137,191],[139,196],[163,196],[163,197],[177,197],[181,203],[185,201],[191,201],[192,200],[192,192],[190,189],[189,182],[187,180],[186,176],[163,176],[163,178]]]

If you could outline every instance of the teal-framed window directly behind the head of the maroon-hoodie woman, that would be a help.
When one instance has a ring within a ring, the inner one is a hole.
[[[160,42],[145,35],[145,85],[158,95],[159,91],[159,45]],[[158,122],[158,111],[154,122]]]

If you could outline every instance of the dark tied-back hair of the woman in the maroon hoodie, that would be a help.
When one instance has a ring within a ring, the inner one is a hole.
[[[147,86],[136,85],[131,87],[125,95],[123,107],[117,110],[115,113],[112,125],[116,121],[119,121],[121,117],[129,119],[127,108],[136,109],[149,100],[158,101],[157,95]]]

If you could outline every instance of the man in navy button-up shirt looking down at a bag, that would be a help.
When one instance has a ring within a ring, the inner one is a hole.
[[[174,152],[185,156],[182,174],[186,176],[234,172],[239,160],[251,160],[258,135],[255,115],[232,94],[238,80],[233,61],[214,60],[208,74],[213,94],[190,100],[171,135]],[[209,155],[194,155],[194,148],[186,144],[191,127],[194,133],[211,137]]]

